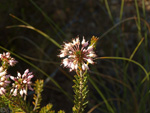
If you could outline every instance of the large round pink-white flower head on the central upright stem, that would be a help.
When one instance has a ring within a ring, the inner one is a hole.
[[[86,42],[84,37],[80,44],[79,37],[72,40],[72,43],[64,43],[63,49],[60,50],[59,57],[64,59],[62,64],[64,67],[70,68],[70,71],[82,69],[89,69],[88,63],[94,64],[93,58],[96,57],[93,51],[93,45],[88,46],[88,41]]]

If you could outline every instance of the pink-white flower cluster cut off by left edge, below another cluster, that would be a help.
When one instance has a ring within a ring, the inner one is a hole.
[[[3,67],[0,67],[0,96],[6,93],[6,86],[10,83],[8,80],[9,75],[6,75],[6,70],[3,70]]]

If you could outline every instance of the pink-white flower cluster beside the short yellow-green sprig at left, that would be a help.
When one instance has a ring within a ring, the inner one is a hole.
[[[18,72],[18,76],[14,77],[14,76],[10,76],[10,78],[15,81],[15,83],[12,84],[12,89],[11,89],[11,93],[13,96],[17,96],[17,92],[20,93],[21,96],[23,96],[23,94],[27,95],[27,89],[30,89],[33,91],[33,88],[31,87],[31,79],[34,77],[34,75],[32,74],[32,72],[29,72],[29,69],[26,69],[24,71],[24,74],[21,75]]]

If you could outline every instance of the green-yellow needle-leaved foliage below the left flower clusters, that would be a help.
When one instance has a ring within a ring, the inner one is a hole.
[[[5,93],[4,95],[0,96],[0,108],[10,110],[12,113],[37,113],[40,109],[40,103],[42,101],[41,92],[43,91],[43,80],[37,80],[34,84],[35,94],[33,95],[34,99],[34,109],[30,104],[26,103],[26,100],[20,95],[12,96],[10,93]],[[43,108],[41,108],[39,113],[55,113],[54,110],[51,110],[52,104],[47,104]],[[60,110],[58,113],[64,113],[64,111]]]

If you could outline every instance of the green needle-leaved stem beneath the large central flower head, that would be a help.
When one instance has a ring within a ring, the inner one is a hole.
[[[74,113],[83,113],[85,107],[87,106],[87,94],[88,94],[88,85],[87,85],[87,76],[75,75],[75,80],[73,82],[75,85],[74,88]]]

